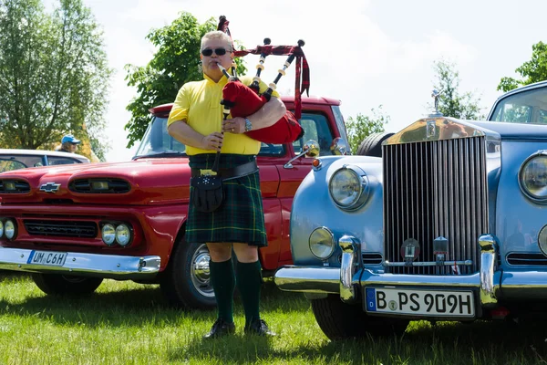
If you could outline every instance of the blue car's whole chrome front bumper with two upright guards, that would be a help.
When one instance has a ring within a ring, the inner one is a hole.
[[[348,240],[353,240],[351,248]],[[356,239],[344,236],[339,242],[341,267],[284,266],[275,273],[274,281],[281,290],[339,294],[346,302],[355,301],[356,291],[363,292],[366,287],[468,288],[478,293],[482,308],[496,307],[501,299],[547,299],[547,272],[499,270],[496,242],[492,235],[480,237],[480,271],[473,275],[394,275],[377,274],[364,268],[358,261],[360,248]]]

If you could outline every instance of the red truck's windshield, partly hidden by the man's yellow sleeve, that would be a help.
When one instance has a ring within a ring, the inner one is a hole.
[[[186,146],[169,135],[167,118],[153,117],[133,159],[181,155],[186,156]]]

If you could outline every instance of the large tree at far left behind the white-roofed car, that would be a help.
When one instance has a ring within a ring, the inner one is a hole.
[[[0,2],[0,143],[51,148],[67,132],[104,159],[108,68],[102,32],[82,0]],[[87,151],[87,153],[86,153]]]

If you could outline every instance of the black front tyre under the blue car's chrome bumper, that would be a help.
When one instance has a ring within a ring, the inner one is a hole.
[[[367,316],[361,305],[349,305],[340,297],[329,295],[312,300],[317,324],[331,340],[372,336],[402,335],[408,320]]]

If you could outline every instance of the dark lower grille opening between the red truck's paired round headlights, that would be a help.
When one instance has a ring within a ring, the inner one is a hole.
[[[95,238],[98,233],[94,222],[24,220],[23,224],[29,235]]]

